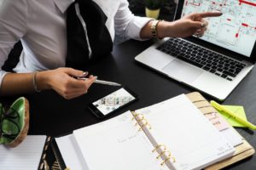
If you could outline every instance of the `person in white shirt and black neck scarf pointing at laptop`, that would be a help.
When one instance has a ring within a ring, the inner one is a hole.
[[[90,64],[90,60],[111,53],[112,43],[130,38],[201,37],[207,29],[205,18],[221,15],[218,12],[189,14],[181,20],[168,22],[134,16],[128,5],[126,0],[76,0],[75,3],[74,0],[1,0],[0,67],[8,59],[15,42],[22,42],[23,51],[14,72],[0,70],[0,95],[53,89],[65,99],[79,97],[87,93],[96,77],[89,75],[86,80],[74,77],[84,77],[86,73],[81,68],[86,69],[83,65]],[[77,14],[75,18],[69,17],[72,12]],[[89,18],[83,19],[83,14]],[[95,14],[101,17],[94,18]],[[86,54],[83,65],[73,62],[76,53],[69,50],[70,45],[72,48],[76,46],[68,42],[68,19],[79,21],[83,26]],[[99,38],[102,42],[96,42],[94,38],[99,36],[98,32],[104,33]],[[104,45],[96,47],[98,43]],[[104,53],[98,54],[99,51]]]

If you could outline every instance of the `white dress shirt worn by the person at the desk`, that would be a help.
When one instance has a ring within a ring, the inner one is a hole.
[[[66,10],[74,0],[0,0],[0,68],[15,42],[23,51],[14,71],[51,70],[66,65]],[[131,14],[126,0],[93,0],[108,16],[113,42],[140,39],[148,18]],[[6,71],[0,70],[0,85]]]

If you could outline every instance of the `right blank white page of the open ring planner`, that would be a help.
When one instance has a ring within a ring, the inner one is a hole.
[[[136,113],[145,116],[155,141],[166,145],[176,169],[201,169],[235,152],[184,94]]]

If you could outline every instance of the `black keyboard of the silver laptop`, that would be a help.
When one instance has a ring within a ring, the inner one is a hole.
[[[239,61],[179,38],[170,38],[157,49],[229,81],[232,81],[241,69],[246,66]]]

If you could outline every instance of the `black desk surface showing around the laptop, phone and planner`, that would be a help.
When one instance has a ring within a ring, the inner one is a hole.
[[[134,58],[152,42],[128,41],[113,48],[112,55],[91,65],[88,71],[99,79],[119,82],[138,94],[137,102],[116,112],[116,115],[153,105],[178,94],[195,91],[183,84],[138,64]],[[256,124],[256,70],[239,84],[232,94],[223,102],[224,105],[243,105],[250,122]],[[74,129],[85,127],[99,120],[92,115],[86,105],[112,92],[114,87],[93,84],[88,94],[77,99],[66,100],[53,91],[44,91],[27,96],[30,102],[30,134],[47,134],[59,136],[72,133]],[[203,94],[207,99],[211,99]],[[110,117],[108,117],[110,118]],[[241,135],[256,148],[256,136],[252,131],[237,129]],[[256,157],[250,157],[227,169],[256,169]]]

